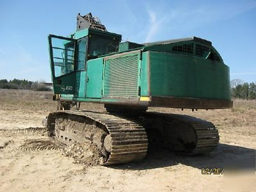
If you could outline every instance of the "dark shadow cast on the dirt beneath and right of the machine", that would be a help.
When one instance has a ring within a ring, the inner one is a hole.
[[[255,149],[220,143],[214,151],[205,155],[182,156],[170,150],[151,147],[143,161],[112,166],[116,169],[148,170],[177,164],[194,168],[232,168],[255,170]]]

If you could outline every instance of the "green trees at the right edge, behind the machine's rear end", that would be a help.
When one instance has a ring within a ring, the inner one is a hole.
[[[256,99],[256,84],[236,84],[236,86],[232,88],[232,97],[239,99]]]

